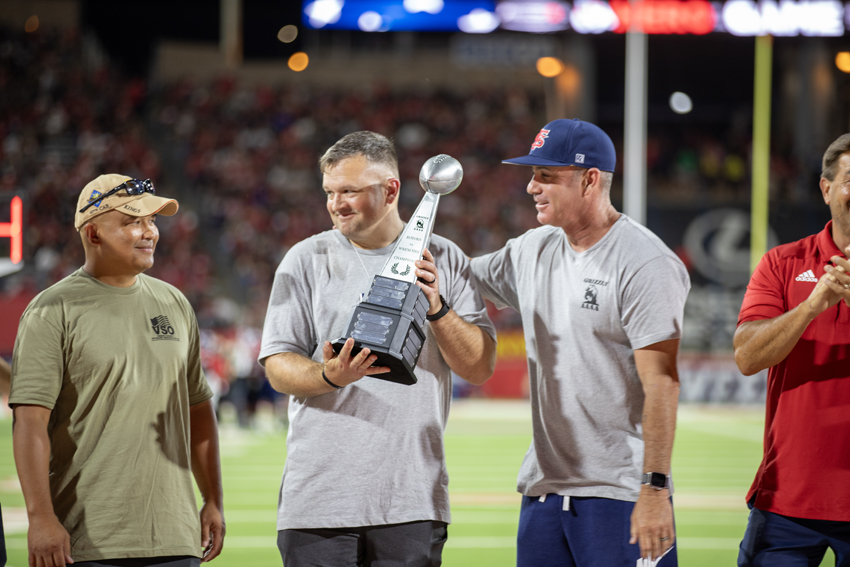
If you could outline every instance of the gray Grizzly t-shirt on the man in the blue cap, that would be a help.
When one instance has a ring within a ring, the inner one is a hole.
[[[633,350],[681,337],[682,262],[621,215],[582,253],[543,226],[471,265],[484,296],[522,316],[534,437],[519,492],[637,501],[644,396]]]

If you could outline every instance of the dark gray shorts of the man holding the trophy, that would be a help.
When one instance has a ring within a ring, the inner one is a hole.
[[[439,567],[448,537],[445,522],[359,528],[281,530],[285,567]]]

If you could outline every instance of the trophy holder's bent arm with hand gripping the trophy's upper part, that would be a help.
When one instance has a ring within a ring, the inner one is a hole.
[[[416,262],[416,275],[424,280],[417,285],[425,292],[431,307],[428,315],[437,314],[443,307],[440,300],[440,276],[431,252]],[[475,385],[486,382],[496,369],[496,341],[483,328],[468,323],[450,309],[436,321],[428,323],[446,363],[455,374]]]

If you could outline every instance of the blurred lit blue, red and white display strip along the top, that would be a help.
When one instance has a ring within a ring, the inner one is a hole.
[[[304,25],[365,32],[843,36],[840,0],[308,0]]]

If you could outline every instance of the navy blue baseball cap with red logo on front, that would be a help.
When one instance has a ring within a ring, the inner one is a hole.
[[[611,138],[599,126],[578,118],[562,118],[540,130],[527,156],[506,159],[502,163],[550,167],[577,165],[613,172],[617,154]]]

